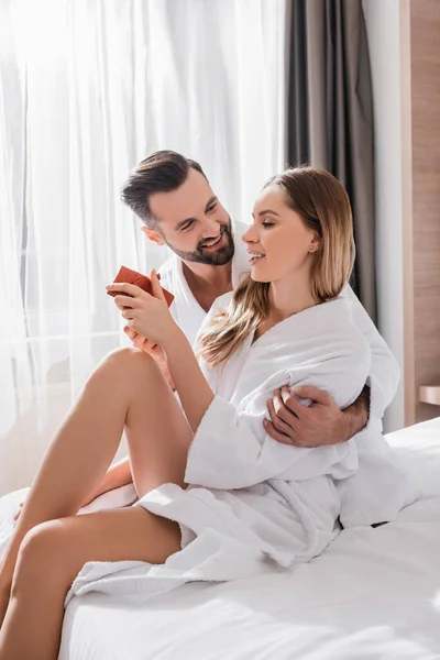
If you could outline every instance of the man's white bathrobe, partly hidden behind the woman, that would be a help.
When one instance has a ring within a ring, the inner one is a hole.
[[[234,222],[233,235],[235,253],[232,260],[232,284],[235,287],[249,271],[249,254],[241,237],[248,226]],[[180,326],[191,344],[206,319],[207,314],[194,297],[184,275],[182,260],[173,255],[161,270],[162,284],[175,295],[170,307],[174,319]],[[354,440],[360,458],[360,470],[355,480],[340,482],[342,498],[341,522],[344,527],[353,525],[372,525],[374,522],[394,520],[398,512],[416,498],[416,491],[407,481],[405,471],[400,469],[398,459],[388,448],[382,436],[382,418],[386,407],[394,398],[399,382],[399,367],[386,342],[350,286],[345,286],[341,297],[346,299],[354,326],[363,336],[371,349],[371,366],[365,380],[370,386],[370,415],[366,428]],[[322,338],[322,343],[328,337]],[[373,502],[364,495],[371,493],[372,481],[376,492]],[[395,491],[392,493],[389,484]],[[346,503],[358,498],[367,506],[353,508]]]

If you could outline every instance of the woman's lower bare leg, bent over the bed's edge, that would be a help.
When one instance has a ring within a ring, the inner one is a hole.
[[[87,561],[164,563],[179,549],[178,525],[141,507],[38,525],[20,549],[0,660],[56,660],[64,600]]]

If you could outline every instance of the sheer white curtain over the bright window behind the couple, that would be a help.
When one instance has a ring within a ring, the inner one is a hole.
[[[132,167],[200,161],[230,212],[284,163],[285,0],[0,0],[0,494],[31,481],[99,360],[105,293],[166,258]]]

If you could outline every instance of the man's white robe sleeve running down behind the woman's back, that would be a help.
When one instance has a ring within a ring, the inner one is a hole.
[[[400,380],[400,370],[397,360],[350,286],[345,287],[343,295],[351,301],[354,324],[372,350],[372,364],[366,380],[371,389],[370,426],[382,420],[385,409],[392,403]]]

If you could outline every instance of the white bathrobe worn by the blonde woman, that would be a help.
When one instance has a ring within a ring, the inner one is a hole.
[[[349,406],[367,378],[371,349],[343,298],[252,340],[222,369],[205,370],[216,396],[190,446],[188,488],[165,484],[138,503],[179,522],[183,549],[161,566],[88,563],[67,601],[89,591],[146,598],[188,581],[255,575],[309,561],[333,539],[341,509],[336,482],[358,470],[354,441],[295,448],[272,440],[262,422],[267,399],[285,384],[315,385]]]

